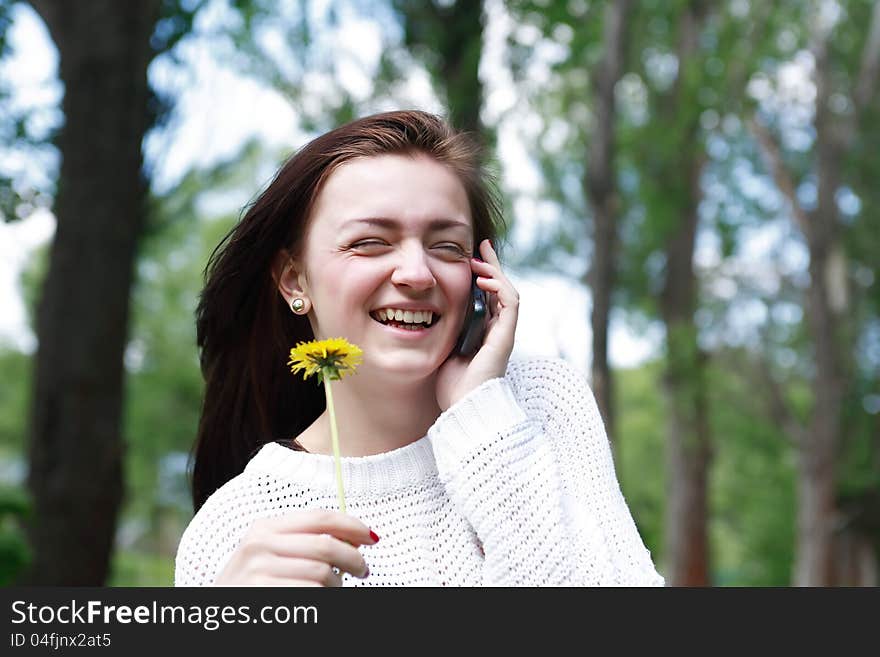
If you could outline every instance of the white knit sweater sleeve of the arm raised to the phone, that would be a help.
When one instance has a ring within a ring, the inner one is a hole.
[[[663,585],[593,395],[564,361],[512,364],[429,436],[447,494],[483,544],[485,585]]]

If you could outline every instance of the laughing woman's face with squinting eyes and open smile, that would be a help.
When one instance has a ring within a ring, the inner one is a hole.
[[[432,374],[461,331],[473,249],[467,195],[444,165],[425,155],[346,162],[316,199],[299,267],[316,338],[357,344],[370,371]]]

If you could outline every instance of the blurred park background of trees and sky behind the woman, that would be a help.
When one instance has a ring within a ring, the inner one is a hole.
[[[867,0],[0,0],[0,581],[172,583],[211,250],[416,107],[487,145],[514,357],[590,379],[667,584],[876,586],[878,86]]]

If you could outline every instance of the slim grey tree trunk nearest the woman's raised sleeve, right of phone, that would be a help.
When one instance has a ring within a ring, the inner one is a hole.
[[[593,209],[593,262],[589,275],[593,292],[590,323],[593,329],[591,383],[608,439],[617,456],[614,431],[614,382],[608,366],[608,320],[614,291],[617,257],[619,197],[615,184],[614,87],[623,73],[626,18],[629,0],[617,0],[605,9],[604,49],[596,78],[596,128],[589,152],[584,187]]]

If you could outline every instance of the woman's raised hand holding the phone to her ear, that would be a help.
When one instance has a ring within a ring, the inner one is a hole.
[[[483,261],[471,258],[477,286],[486,292],[489,319],[482,346],[473,358],[453,353],[437,375],[437,403],[445,411],[484,381],[504,376],[513,351],[519,293],[501,270],[489,240],[480,243]]]

